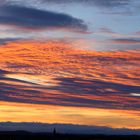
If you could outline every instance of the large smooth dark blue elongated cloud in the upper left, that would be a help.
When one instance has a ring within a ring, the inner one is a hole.
[[[82,20],[72,16],[20,6],[1,6],[0,24],[37,30],[50,28],[87,30],[87,26]]]

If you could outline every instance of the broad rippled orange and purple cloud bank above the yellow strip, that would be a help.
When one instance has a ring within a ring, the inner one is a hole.
[[[91,52],[73,46],[61,40],[17,41],[1,47],[0,66],[11,74],[0,77],[0,99],[139,109],[139,99],[131,94],[140,90],[139,51]]]

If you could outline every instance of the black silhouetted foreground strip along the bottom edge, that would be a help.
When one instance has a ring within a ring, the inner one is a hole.
[[[137,135],[69,135],[29,133],[24,131],[0,132],[0,140],[140,140]]]

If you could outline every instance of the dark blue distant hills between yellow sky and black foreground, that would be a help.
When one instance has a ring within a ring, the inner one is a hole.
[[[140,135],[140,130],[113,129],[109,127],[72,125],[72,124],[44,124],[44,123],[12,123],[1,122],[1,131],[24,130],[29,132],[52,133],[54,128],[59,134],[104,134],[104,135]],[[18,131],[18,132],[24,132]]]

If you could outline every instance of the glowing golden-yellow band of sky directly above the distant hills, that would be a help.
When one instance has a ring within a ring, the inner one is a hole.
[[[139,112],[0,102],[0,121],[42,122],[140,129]],[[57,117],[56,117],[57,116]]]

